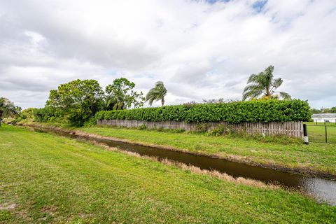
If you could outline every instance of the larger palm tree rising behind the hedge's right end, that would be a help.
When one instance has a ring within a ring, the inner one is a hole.
[[[243,100],[254,99],[258,97],[264,98],[283,98],[290,99],[290,95],[286,92],[276,92],[275,90],[283,83],[281,78],[273,78],[274,66],[268,66],[265,71],[258,74],[252,74],[248,78],[247,86],[244,88]]]

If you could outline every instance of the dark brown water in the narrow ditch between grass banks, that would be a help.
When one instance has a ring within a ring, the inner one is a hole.
[[[45,130],[41,128],[34,128],[34,130],[50,132],[50,130]],[[244,165],[237,162],[230,162],[228,160],[209,158],[202,155],[193,155],[188,153],[169,151],[164,148],[139,146],[137,144],[128,144],[121,141],[111,141],[108,139],[76,137],[75,135],[66,132],[55,133],[64,137],[71,137],[73,139],[98,141],[99,143],[103,143],[111,147],[120,148],[124,151],[139,153],[140,155],[155,156],[159,160],[167,158],[169,160],[183,162],[187,165],[200,167],[201,169],[215,169],[218,172],[226,173],[235,177],[241,176],[248,179],[262,181],[264,183],[276,183],[287,188],[300,189],[304,193],[309,193],[310,195],[313,195],[314,197],[316,197],[317,200],[327,202],[328,204],[334,206],[336,205],[336,181],[302,176],[300,174],[290,174],[286,172],[276,171],[274,169],[254,167],[251,165]]]

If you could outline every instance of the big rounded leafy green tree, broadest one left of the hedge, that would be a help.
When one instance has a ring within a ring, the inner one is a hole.
[[[50,90],[44,111],[66,116],[72,125],[80,126],[102,109],[103,98],[104,91],[97,80],[77,79]]]

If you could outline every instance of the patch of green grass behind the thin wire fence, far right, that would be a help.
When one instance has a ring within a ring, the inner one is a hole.
[[[325,142],[325,126],[324,123],[306,123],[309,141],[311,142]],[[319,126],[321,125],[321,126]],[[323,125],[323,126],[322,126]],[[336,144],[336,125],[335,123],[325,123],[327,126],[327,142]]]

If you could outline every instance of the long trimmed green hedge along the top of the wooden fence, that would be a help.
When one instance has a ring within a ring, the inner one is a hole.
[[[147,121],[186,121],[257,123],[308,121],[311,118],[307,102],[293,100],[255,100],[223,104],[196,104],[163,106],[155,108],[122,111],[99,111],[98,120],[147,120]]]

